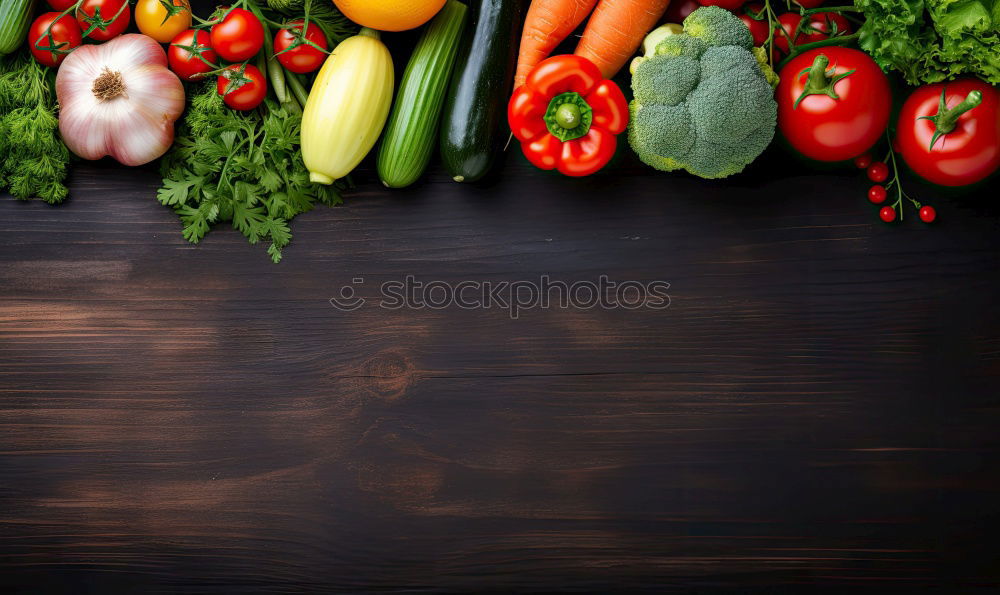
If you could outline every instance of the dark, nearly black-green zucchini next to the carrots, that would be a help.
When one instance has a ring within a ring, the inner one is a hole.
[[[525,6],[524,0],[474,0],[441,119],[441,162],[456,182],[489,173],[507,143]]]

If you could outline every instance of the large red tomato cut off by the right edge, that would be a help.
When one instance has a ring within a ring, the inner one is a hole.
[[[897,129],[903,160],[935,184],[965,186],[1000,167],[1000,92],[982,81],[918,88],[903,104]]]

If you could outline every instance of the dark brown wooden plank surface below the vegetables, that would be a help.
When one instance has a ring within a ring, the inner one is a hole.
[[[856,172],[787,160],[707,182],[518,157],[406,192],[364,170],[280,265],[232,229],[185,243],[149,168],[0,200],[3,584],[1000,587],[991,192],[889,227]],[[671,303],[378,307],[408,274]],[[370,303],[333,308],[356,277]]]

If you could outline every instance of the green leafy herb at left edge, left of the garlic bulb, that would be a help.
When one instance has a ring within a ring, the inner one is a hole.
[[[70,155],[59,138],[55,84],[27,49],[0,58],[0,190],[62,202]]]

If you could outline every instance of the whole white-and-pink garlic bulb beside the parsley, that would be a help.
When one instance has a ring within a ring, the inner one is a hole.
[[[167,152],[184,111],[184,86],[152,38],[120,35],[82,45],[56,75],[59,133],[84,159],[142,165]]]

